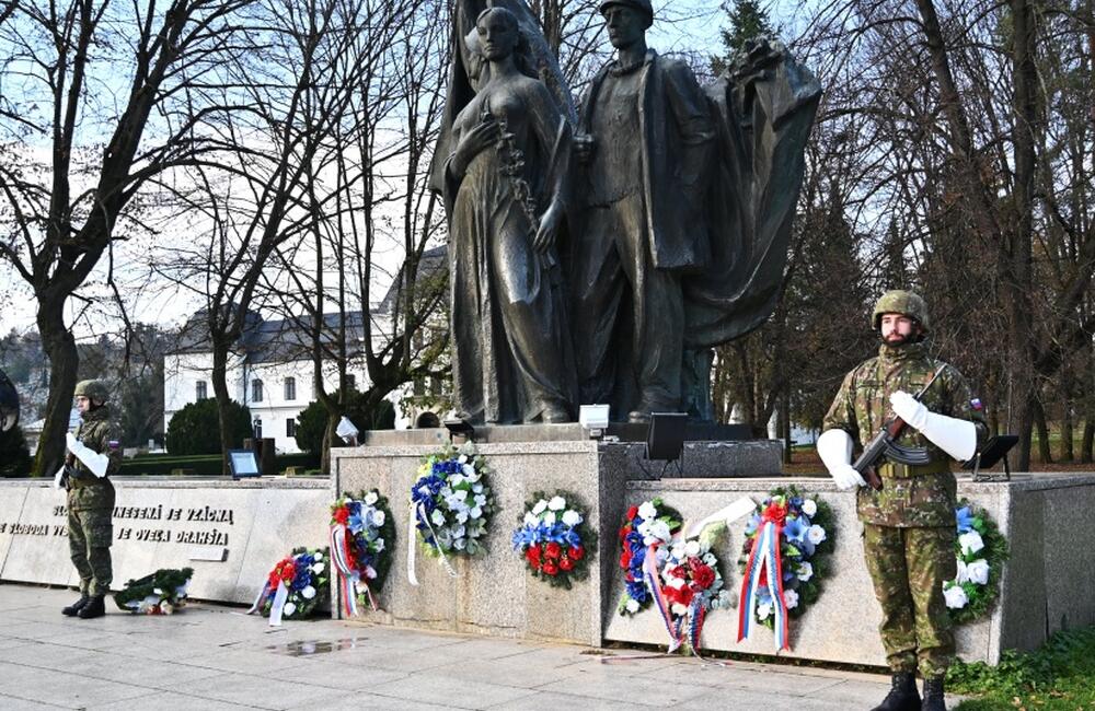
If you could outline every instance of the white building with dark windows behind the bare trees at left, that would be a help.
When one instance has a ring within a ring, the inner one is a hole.
[[[431,249],[423,255],[424,268],[430,270],[443,267],[445,248]],[[428,260],[428,264],[426,264]],[[373,334],[388,331],[389,314],[394,306],[391,292],[374,310]],[[264,320],[257,313],[250,312],[247,326],[237,347],[229,354],[229,396],[251,408],[255,434],[273,438],[279,453],[295,453],[300,450],[296,441],[297,417],[315,399],[313,388],[312,343],[308,329],[292,319]],[[337,333],[338,314],[324,316],[324,331]],[[349,385],[358,391],[369,386],[364,356],[356,348],[361,340],[361,314],[346,314],[346,342],[350,351],[347,366]],[[209,348],[208,331],[205,327],[205,312],[195,314],[183,327],[178,347],[163,359],[163,427],[175,412],[191,403],[214,397],[212,351]],[[374,336],[374,346],[381,347],[381,337]],[[335,362],[324,369],[323,383],[326,392],[338,386],[338,371]],[[388,396],[395,406],[395,428],[405,429],[413,424],[418,412],[408,408],[404,412],[401,400],[414,393],[422,394],[423,383],[407,384]],[[440,387],[431,383],[430,389]],[[440,395],[440,393],[435,393]],[[242,444],[242,443],[241,443]]]

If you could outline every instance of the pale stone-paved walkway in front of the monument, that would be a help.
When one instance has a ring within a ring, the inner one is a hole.
[[[869,709],[888,678],[316,620],[239,608],[62,617],[68,590],[0,583],[0,709]],[[618,661],[604,664],[606,656]]]

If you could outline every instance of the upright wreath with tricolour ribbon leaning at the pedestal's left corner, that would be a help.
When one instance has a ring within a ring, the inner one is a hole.
[[[358,614],[358,604],[377,609],[376,595],[392,564],[395,522],[388,499],[373,489],[342,497],[331,506],[331,560],[338,573],[343,609]]]

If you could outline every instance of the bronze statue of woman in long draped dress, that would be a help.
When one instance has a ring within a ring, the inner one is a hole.
[[[470,39],[489,71],[453,120],[445,166],[456,406],[473,422],[568,422],[576,385],[555,240],[570,126],[519,65],[511,12],[484,10]]]

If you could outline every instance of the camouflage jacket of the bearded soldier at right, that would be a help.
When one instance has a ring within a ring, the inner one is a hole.
[[[864,361],[844,377],[822,429],[846,431],[858,453],[894,417],[890,394],[919,393],[944,364],[927,357],[924,343],[880,346],[877,358]],[[983,443],[988,427],[980,403],[972,398],[966,378],[954,366],[943,371],[921,401],[932,412],[972,421],[978,446]],[[879,466],[883,489],[860,488],[860,520],[879,526],[953,526],[957,485],[950,473],[950,457],[912,428],[906,428],[899,444],[926,447],[932,463],[922,468],[892,463]]]

